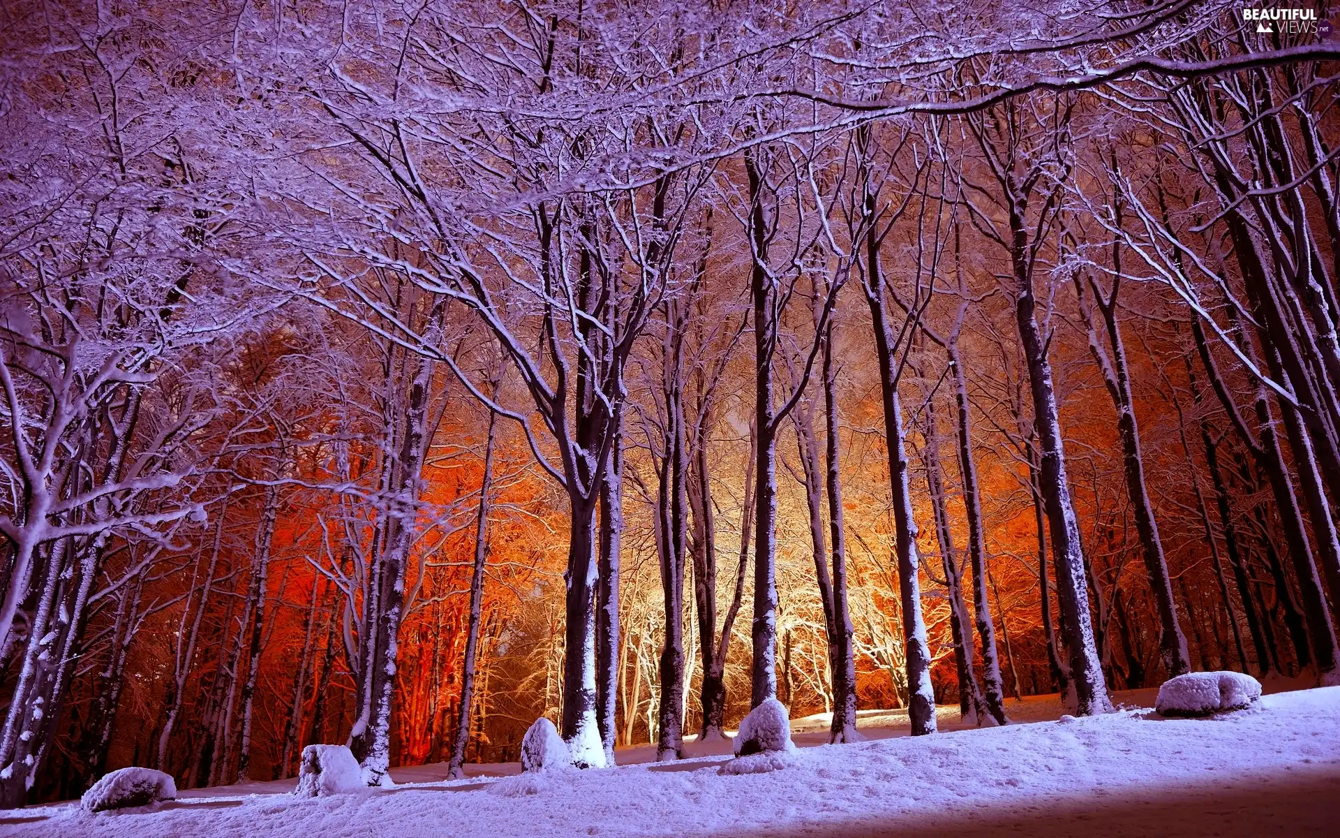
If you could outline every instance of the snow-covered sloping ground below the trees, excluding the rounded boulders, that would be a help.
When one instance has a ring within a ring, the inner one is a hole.
[[[1268,684],[1285,688],[1285,684]],[[515,764],[397,768],[398,786],[296,799],[293,780],[184,791],[176,802],[84,814],[74,803],[0,817],[0,834],[418,835],[1262,835],[1335,834],[1340,686],[1268,695],[1214,719],[1162,719],[1155,691],[1071,719],[1055,696],[1008,701],[1004,728],[909,737],[906,713],[866,711],[870,741],[821,745],[827,717],[796,719],[801,750],[768,774],[722,775],[728,741],[657,764],[620,748],[615,771],[520,775]],[[1060,719],[1060,720],[1057,720]]]

